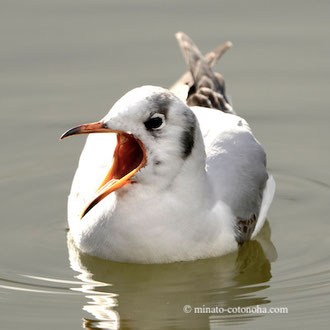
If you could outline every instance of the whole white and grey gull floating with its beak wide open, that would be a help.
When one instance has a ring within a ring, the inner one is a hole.
[[[135,88],[100,121],[61,137],[90,134],[68,197],[83,253],[130,263],[210,258],[263,227],[275,181],[212,70],[231,43],[203,56],[186,34],[176,38],[189,71],[170,89]]]

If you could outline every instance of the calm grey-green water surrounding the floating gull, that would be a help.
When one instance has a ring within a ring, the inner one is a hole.
[[[328,1],[1,2],[0,320],[4,329],[325,328],[330,321]],[[71,244],[66,198],[84,138],[126,91],[184,71],[173,37],[217,65],[277,192],[258,241],[223,258],[131,265]],[[184,313],[286,307],[286,314]]]

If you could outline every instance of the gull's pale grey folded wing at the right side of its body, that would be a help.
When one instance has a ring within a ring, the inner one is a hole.
[[[248,131],[225,134],[212,148],[218,152],[207,158],[208,174],[216,180],[216,197],[236,218],[236,240],[242,244],[251,238],[258,221],[268,180],[266,154]]]

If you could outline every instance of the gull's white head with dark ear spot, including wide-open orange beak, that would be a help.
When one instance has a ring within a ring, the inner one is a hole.
[[[100,132],[117,133],[117,147],[98,196],[83,215],[113,191],[119,195],[133,189],[156,193],[188,168],[194,171],[205,166],[203,140],[194,113],[160,87],[133,89],[100,122],[72,128],[62,138]]]

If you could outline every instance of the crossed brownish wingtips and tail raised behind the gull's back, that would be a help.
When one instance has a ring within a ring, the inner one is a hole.
[[[211,69],[232,46],[232,43],[227,41],[203,56],[186,34],[178,32],[175,36],[189,72],[185,73],[171,87],[171,90],[190,106],[202,106],[235,113],[226,96],[224,79]]]

